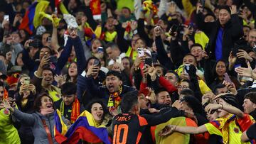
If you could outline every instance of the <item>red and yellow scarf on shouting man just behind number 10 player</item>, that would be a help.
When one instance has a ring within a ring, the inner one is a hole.
[[[110,94],[110,98],[107,103],[107,107],[117,108],[119,106],[119,104],[121,103],[121,97],[120,97],[121,93],[122,93],[122,86],[119,87],[118,92],[114,92],[114,93]]]

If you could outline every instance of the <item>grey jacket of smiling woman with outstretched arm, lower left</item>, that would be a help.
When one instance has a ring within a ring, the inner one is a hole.
[[[41,113],[23,113],[18,109],[14,110],[13,116],[26,126],[31,126],[33,135],[35,137],[34,144],[48,144],[48,137],[41,118],[46,120],[46,124],[50,130],[50,135],[53,138],[53,143],[58,144],[54,138],[54,114],[50,113],[48,116],[43,116]]]

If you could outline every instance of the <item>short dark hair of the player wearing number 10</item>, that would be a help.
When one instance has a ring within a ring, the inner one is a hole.
[[[132,92],[127,92],[122,96],[122,101],[121,101],[121,110],[122,113],[129,113],[131,111],[132,106],[135,104],[138,104],[138,91],[132,91]]]

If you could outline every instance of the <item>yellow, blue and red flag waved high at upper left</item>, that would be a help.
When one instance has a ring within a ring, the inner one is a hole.
[[[49,3],[49,1],[35,1],[31,4],[31,6],[28,7],[18,29],[23,29],[29,34],[32,34],[34,28],[40,26],[43,19],[39,12],[45,11]]]

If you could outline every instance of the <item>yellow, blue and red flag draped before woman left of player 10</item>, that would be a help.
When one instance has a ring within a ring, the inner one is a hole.
[[[55,112],[55,140],[58,143],[75,144],[80,139],[85,140],[88,143],[106,143],[110,144],[107,128],[105,126],[96,126],[95,119],[88,111],[84,111],[80,114],[78,119],[68,129],[63,123],[60,117],[60,111]]]

